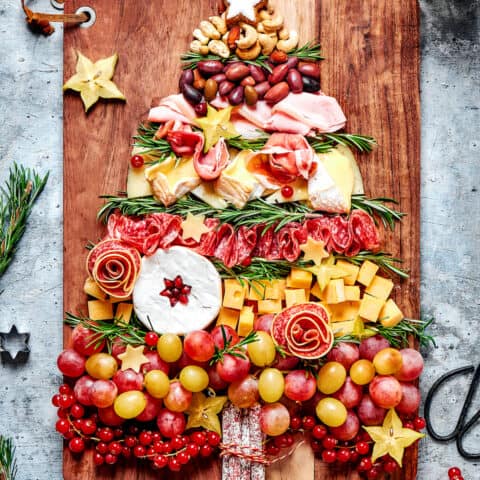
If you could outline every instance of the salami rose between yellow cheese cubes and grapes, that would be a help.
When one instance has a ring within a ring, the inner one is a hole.
[[[287,354],[299,358],[323,357],[333,346],[328,313],[318,303],[286,308],[273,319],[271,334]]]

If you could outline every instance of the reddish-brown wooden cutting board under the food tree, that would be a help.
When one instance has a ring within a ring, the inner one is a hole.
[[[218,0],[221,1],[221,0]],[[100,102],[88,115],[79,97],[64,102],[64,307],[86,311],[85,245],[104,233],[95,220],[101,194],[125,189],[131,135],[156,96],[177,92],[180,54],[188,49],[200,20],[217,12],[217,0],[67,0],[67,13],[89,5],[96,23],[66,28],[64,75],[75,71],[76,51],[97,60],[119,54],[114,81],[127,103]],[[400,200],[408,213],[394,234],[385,233],[385,250],[405,260],[410,279],[395,287],[405,314],[419,316],[419,14],[415,0],[276,0],[298,28],[302,40],[320,39],[322,89],[338,99],[348,118],[347,131],[373,135],[379,147],[359,156],[369,196]],[[192,8],[193,7],[193,8]],[[65,328],[64,340],[70,341]],[[417,450],[410,449],[403,473],[416,478]],[[163,475],[163,476],[162,476]],[[219,463],[203,462],[172,475],[132,463],[96,470],[92,456],[64,452],[64,478],[125,479],[220,478]],[[355,473],[315,460],[308,445],[269,468],[270,479],[345,480]]]

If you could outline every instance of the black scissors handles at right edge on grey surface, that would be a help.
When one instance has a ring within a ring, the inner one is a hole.
[[[473,365],[469,365],[468,367],[461,367],[451,372],[442,375],[430,388],[427,398],[425,400],[425,420],[427,421],[427,430],[428,433],[437,441],[439,442],[449,442],[450,440],[455,439],[457,443],[458,453],[467,460],[479,460],[480,459],[480,452],[472,453],[467,452],[463,447],[463,439],[465,435],[472,429],[472,427],[480,420],[480,410],[475,413],[475,415],[465,423],[468,409],[472,404],[473,396],[475,395],[475,391],[477,390],[478,384],[480,382],[480,365],[478,365],[477,369],[475,370],[475,374],[472,379],[472,383],[470,384],[470,388],[468,389],[467,396],[465,398],[465,402],[463,403],[462,411],[460,412],[460,416],[458,417],[457,425],[455,429],[447,434],[447,435],[439,435],[432,426],[431,422],[431,415],[430,410],[432,406],[433,397],[437,393],[437,390],[450,378],[455,377],[457,375],[472,373],[475,370]]]

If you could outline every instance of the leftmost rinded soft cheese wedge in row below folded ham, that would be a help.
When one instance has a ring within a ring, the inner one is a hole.
[[[145,176],[152,187],[153,196],[165,206],[175,203],[201,183],[191,157],[165,160],[147,168]]]

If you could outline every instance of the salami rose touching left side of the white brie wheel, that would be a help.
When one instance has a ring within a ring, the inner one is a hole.
[[[104,240],[88,254],[87,270],[108,295],[127,298],[140,272],[140,253],[118,240]]]

